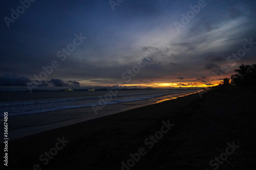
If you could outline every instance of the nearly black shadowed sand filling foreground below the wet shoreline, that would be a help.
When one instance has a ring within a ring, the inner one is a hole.
[[[233,141],[239,148],[218,169],[255,169],[255,104],[255,93],[212,90],[42,132],[9,143],[9,169],[214,169],[210,160]],[[168,120],[174,127],[153,147],[144,142]],[[58,137],[69,142],[56,150]],[[50,150],[56,155],[40,161]]]

